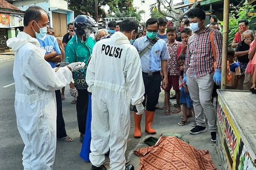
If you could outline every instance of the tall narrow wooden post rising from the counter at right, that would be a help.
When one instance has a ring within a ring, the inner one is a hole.
[[[221,89],[226,89],[228,28],[229,28],[229,0],[224,1],[223,21],[224,21],[224,27],[223,27],[223,47],[222,47],[222,87]]]

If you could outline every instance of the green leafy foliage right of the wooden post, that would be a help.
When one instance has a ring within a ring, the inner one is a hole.
[[[238,21],[241,19],[247,19],[250,23],[252,18],[256,16],[249,17],[248,14],[254,10],[254,6],[244,3],[243,6],[233,6],[234,10],[230,11],[229,14],[229,34],[228,34],[228,44],[231,45],[234,40],[235,34],[238,32]],[[224,25],[224,22],[221,22]],[[223,31],[223,30],[222,30]]]

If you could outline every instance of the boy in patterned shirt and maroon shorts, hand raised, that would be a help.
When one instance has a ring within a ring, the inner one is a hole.
[[[179,89],[179,76],[180,76],[180,67],[178,65],[178,50],[181,46],[181,42],[176,41],[177,30],[175,27],[169,27],[167,29],[167,48],[170,54],[170,58],[168,59],[168,87],[165,89],[165,115],[170,114],[170,90],[173,88],[176,92],[176,101],[177,106],[172,111],[173,114],[180,113],[180,89]]]

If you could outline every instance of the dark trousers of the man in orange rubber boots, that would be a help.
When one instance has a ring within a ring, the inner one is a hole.
[[[154,74],[149,76],[147,74],[142,74],[144,87],[145,87],[145,94],[144,94],[144,101],[143,105],[146,106],[146,110],[155,112],[156,111],[156,104],[159,99],[159,93],[161,92],[161,75]],[[134,106],[134,112],[136,111],[136,107]]]

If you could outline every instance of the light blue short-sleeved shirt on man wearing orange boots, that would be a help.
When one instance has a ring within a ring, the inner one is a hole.
[[[141,52],[149,44],[147,36],[138,38],[133,45],[138,52]],[[141,58],[143,72],[156,72],[161,70],[161,60],[167,60],[169,52],[164,40],[159,39]]]

